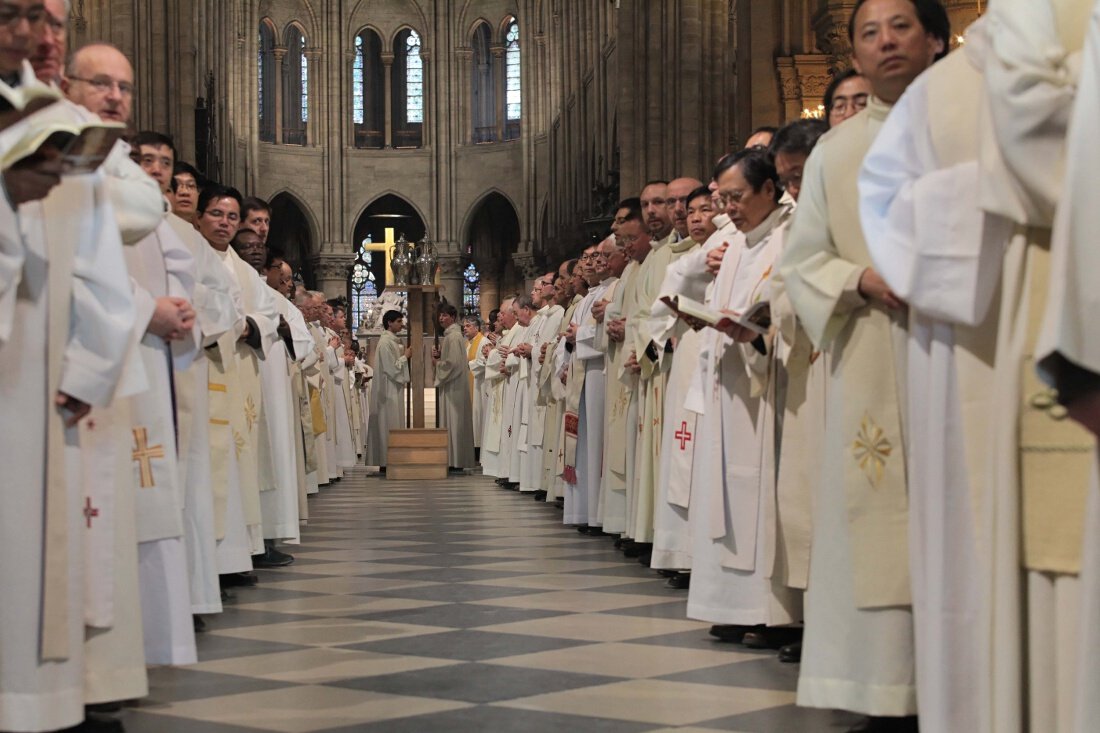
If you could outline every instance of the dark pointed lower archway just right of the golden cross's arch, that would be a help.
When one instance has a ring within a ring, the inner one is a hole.
[[[463,244],[481,274],[479,308],[484,318],[503,296],[524,288],[524,273],[513,261],[519,249],[519,217],[507,198],[493,192],[477,204]]]

